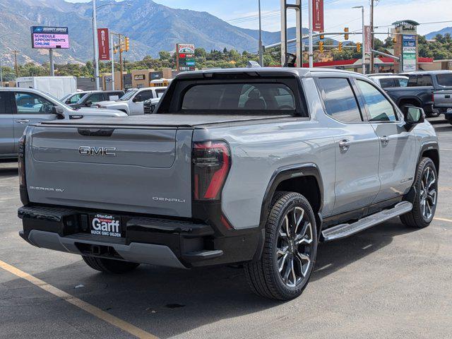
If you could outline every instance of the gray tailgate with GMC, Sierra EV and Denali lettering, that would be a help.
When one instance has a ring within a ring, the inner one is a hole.
[[[30,202],[191,217],[193,129],[34,126]]]

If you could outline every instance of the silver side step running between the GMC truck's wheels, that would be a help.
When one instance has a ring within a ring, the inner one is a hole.
[[[381,224],[381,222],[385,222],[386,220],[408,213],[410,210],[412,210],[412,203],[402,201],[390,210],[382,210],[379,213],[369,215],[368,217],[362,218],[352,224],[333,226],[322,232],[323,242],[331,242],[331,240],[349,237],[350,235],[366,230],[369,227]]]

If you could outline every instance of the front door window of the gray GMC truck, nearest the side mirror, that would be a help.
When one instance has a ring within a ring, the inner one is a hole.
[[[369,109],[370,121],[398,120],[391,102],[374,85],[362,80],[356,83]]]

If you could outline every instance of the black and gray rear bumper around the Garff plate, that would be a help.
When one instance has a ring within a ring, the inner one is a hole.
[[[173,268],[250,261],[262,244],[263,233],[258,229],[232,230],[225,237],[202,222],[121,213],[114,214],[121,218],[123,237],[93,235],[88,217],[92,213],[24,206],[18,210],[18,217],[23,220],[19,234],[30,244],[45,249]]]

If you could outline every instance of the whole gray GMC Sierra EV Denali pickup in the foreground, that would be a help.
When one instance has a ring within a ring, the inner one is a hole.
[[[95,270],[243,263],[302,293],[317,244],[434,217],[439,152],[422,109],[320,69],[182,73],[155,114],[45,121],[20,141],[20,236]]]

